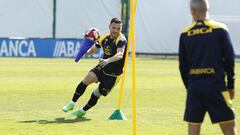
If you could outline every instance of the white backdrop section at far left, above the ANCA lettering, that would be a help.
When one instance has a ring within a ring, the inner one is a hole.
[[[1,0],[0,37],[52,37],[52,0]]]

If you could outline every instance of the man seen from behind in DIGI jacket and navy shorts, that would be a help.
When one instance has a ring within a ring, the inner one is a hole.
[[[232,106],[235,56],[228,30],[209,19],[207,0],[190,0],[190,8],[194,22],[182,32],[179,46],[179,68],[187,89],[184,120],[188,134],[200,134],[208,112],[224,135],[236,135]]]

